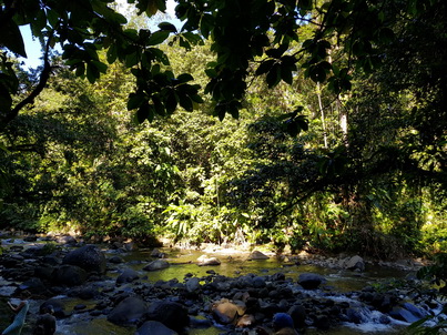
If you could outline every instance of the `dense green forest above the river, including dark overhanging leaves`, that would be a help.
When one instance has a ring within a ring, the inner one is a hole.
[[[446,252],[444,0],[0,3],[2,227]]]

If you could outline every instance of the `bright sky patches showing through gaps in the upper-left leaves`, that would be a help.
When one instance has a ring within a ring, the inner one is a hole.
[[[123,9],[123,14],[125,14],[125,0],[118,0],[116,2],[121,3],[121,8]],[[174,0],[167,0],[166,2],[166,13],[170,14],[171,18],[175,18],[175,1]],[[181,27],[181,22],[177,19],[169,20],[172,22],[174,26],[177,27],[177,29]],[[152,30],[152,28],[151,28]],[[42,64],[42,60],[40,59],[42,57],[41,52],[41,47],[38,40],[33,40],[31,35],[31,29],[29,26],[22,26],[20,27],[20,31],[22,33],[23,42],[24,42],[24,49],[27,51],[28,58],[20,58],[20,61],[24,62],[24,68],[30,69],[33,68],[35,69],[37,67]]]

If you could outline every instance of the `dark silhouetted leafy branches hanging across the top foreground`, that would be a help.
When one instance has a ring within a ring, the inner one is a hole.
[[[165,0],[129,0],[140,14],[149,17],[165,11]],[[221,119],[226,113],[237,116],[247,89],[250,67],[258,65],[256,75],[265,75],[270,87],[280,81],[293,82],[302,60],[305,74],[315,82],[328,81],[331,88],[342,92],[351,88],[353,69],[370,71],[380,63],[380,50],[394,38],[392,26],[396,17],[417,18],[438,7],[443,1],[332,0],[332,1],[185,1],[179,0],[175,13],[184,22],[180,31],[169,23],[159,30],[128,29],[126,19],[106,0],[83,1],[21,1],[2,0],[0,22],[2,31],[0,129],[4,129],[20,110],[42,91],[52,71],[49,55],[59,43],[65,63],[77,75],[90,82],[106,71],[106,63],[98,57],[106,50],[108,63],[122,61],[138,79],[128,108],[136,110],[139,119],[152,120],[154,114],[171,114],[177,105],[192,110],[202,102],[199,87],[191,84],[189,73],[174,75],[160,64],[169,65],[169,59],[159,48],[170,34],[179,45],[211,39],[215,61],[205,69],[209,81],[205,93],[214,100],[214,113]],[[40,80],[28,97],[16,101],[21,87],[17,71],[8,54],[26,57],[19,27],[30,24],[34,38],[42,43],[43,68]],[[312,26],[311,35],[299,40],[299,31]],[[299,49],[289,52],[293,42]],[[332,57],[332,45],[347,55],[347,62]]]

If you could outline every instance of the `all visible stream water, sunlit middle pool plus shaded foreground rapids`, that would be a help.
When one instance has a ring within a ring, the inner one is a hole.
[[[408,272],[398,271],[390,267],[379,267],[367,265],[365,272],[356,273],[352,271],[333,270],[316,265],[296,265],[293,263],[285,264],[276,257],[270,257],[262,261],[248,261],[246,253],[232,253],[232,254],[217,254],[216,256],[222,264],[219,266],[199,266],[196,264],[199,256],[203,255],[203,251],[179,251],[179,250],[161,250],[165,253],[165,260],[171,264],[167,268],[154,272],[143,271],[148,262],[152,261],[150,254],[152,250],[138,250],[133,252],[119,253],[104,248],[106,257],[120,255],[124,262],[113,265],[106,273],[108,280],[111,285],[114,284],[115,278],[120,275],[123,268],[132,267],[141,275],[140,282],[155,283],[158,281],[170,281],[176,278],[183,282],[185,276],[194,275],[197,277],[209,275],[209,271],[228,277],[236,277],[248,273],[256,275],[271,275],[282,272],[286,277],[291,277],[294,282],[298,278],[301,273],[312,272],[324,275],[327,280],[326,286],[332,287],[332,292],[347,293],[351,291],[359,291],[366,285],[378,283],[383,280],[403,278],[408,275]],[[0,277],[0,296],[9,296],[11,294],[11,286]],[[346,323],[337,328],[332,328],[324,334],[331,335],[354,335],[354,334],[396,334],[399,329],[405,328],[408,324],[392,319],[390,324],[384,325],[379,322],[382,313],[377,311],[369,311],[362,308],[360,303],[346,297],[345,295],[331,295],[331,291],[314,291],[311,294],[324,295],[325,298],[334,301],[346,301],[352,306],[358,306],[362,313],[362,324]],[[93,307],[95,302],[85,302],[79,298],[71,298],[61,296],[64,301],[65,311],[74,309],[78,304],[87,304],[87,308]],[[91,306],[89,305],[91,304]],[[37,307],[35,307],[37,308]],[[217,335],[225,333],[217,327],[207,329],[192,329],[190,335]],[[109,323],[105,316],[95,317],[90,319],[88,313],[74,313],[70,318],[58,321],[58,332],[60,335],[128,335],[134,334],[134,328],[120,327]],[[308,328],[306,334],[323,334],[317,329]]]

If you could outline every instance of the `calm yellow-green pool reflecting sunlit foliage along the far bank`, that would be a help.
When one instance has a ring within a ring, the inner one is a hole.
[[[384,278],[403,278],[407,272],[396,268],[386,268],[373,265],[366,265],[365,272],[356,273],[353,271],[341,271],[317,265],[296,265],[294,263],[284,263],[277,257],[268,260],[247,260],[247,254],[217,255],[222,262],[217,266],[199,266],[197,258],[203,254],[200,251],[177,251],[162,250],[166,254],[166,261],[171,264],[170,267],[146,272],[143,267],[148,262],[153,261],[150,250],[140,250],[122,255],[125,263],[122,263],[119,268],[132,267],[142,276],[146,276],[148,281],[155,283],[158,281],[170,281],[173,278],[183,282],[186,275],[197,277],[209,275],[209,271],[214,271],[216,274],[236,277],[246,274],[270,275],[282,272],[286,277],[297,281],[301,273],[313,272],[326,277],[326,286],[333,287],[338,292],[349,292],[362,290],[365,285],[377,283]],[[213,255],[214,256],[214,255]],[[131,265],[130,265],[131,264]],[[119,275],[115,273],[114,275]]]

